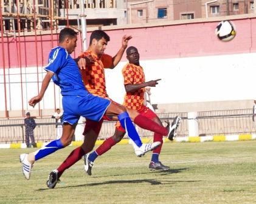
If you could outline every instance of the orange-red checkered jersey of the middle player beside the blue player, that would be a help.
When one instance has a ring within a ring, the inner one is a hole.
[[[94,58],[94,64],[86,64],[85,70],[80,70],[83,78],[83,83],[86,89],[93,95],[106,98],[106,82],[104,68],[112,66],[112,56],[103,54],[100,58],[87,50],[81,53],[79,57],[85,57],[91,55]]]

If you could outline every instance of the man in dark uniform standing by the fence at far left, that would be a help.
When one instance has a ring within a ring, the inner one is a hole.
[[[27,148],[30,147],[29,137],[30,137],[33,148],[36,148],[35,137],[34,137],[34,129],[35,129],[36,123],[35,123],[35,120],[32,117],[30,117],[30,112],[26,113],[24,124],[25,124],[25,138],[26,138]]]

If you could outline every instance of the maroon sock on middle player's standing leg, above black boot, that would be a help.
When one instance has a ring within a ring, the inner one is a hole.
[[[74,149],[71,152],[71,154],[69,154],[69,156],[66,158],[66,160],[63,161],[63,163],[58,167],[58,178],[61,177],[61,175],[66,169],[68,169],[69,167],[74,165],[74,163],[80,160],[80,158],[83,157],[83,155],[85,155],[85,151],[83,151],[81,147]]]

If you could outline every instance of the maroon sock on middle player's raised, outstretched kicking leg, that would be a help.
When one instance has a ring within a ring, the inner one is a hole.
[[[137,115],[136,118],[134,118],[134,123],[140,126],[143,129],[147,129],[148,131],[156,132],[161,135],[167,136],[168,131],[165,127],[157,124],[153,120],[150,120],[149,118],[143,116],[143,115]]]

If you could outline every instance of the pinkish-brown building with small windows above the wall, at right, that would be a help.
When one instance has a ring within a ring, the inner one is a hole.
[[[128,0],[132,24],[254,13],[254,1]]]

